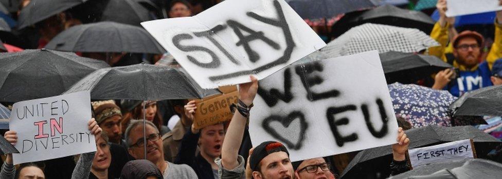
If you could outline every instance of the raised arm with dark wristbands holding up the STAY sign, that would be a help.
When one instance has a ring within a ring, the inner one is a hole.
[[[239,100],[241,100],[246,106],[253,104],[253,100],[258,90],[258,79],[254,76],[250,76],[250,79],[251,82],[239,85]],[[228,126],[225,134],[225,141],[223,141],[222,146],[221,160],[222,166],[225,169],[231,170],[239,165],[237,158],[246,123],[246,116],[243,116],[238,110],[236,110],[234,117],[232,117],[232,121]]]

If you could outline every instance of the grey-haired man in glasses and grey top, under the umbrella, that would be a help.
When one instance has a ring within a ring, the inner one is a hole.
[[[160,134],[155,125],[146,121],[145,138],[143,135],[143,121],[132,120],[126,129],[126,142],[129,145],[129,154],[136,160],[147,159],[154,163],[162,172],[164,179],[167,178],[197,178],[197,175],[188,165],[176,165],[164,160],[164,151]],[[145,147],[147,156],[145,157]]]

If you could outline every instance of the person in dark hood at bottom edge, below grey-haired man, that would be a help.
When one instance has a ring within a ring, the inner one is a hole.
[[[148,160],[128,162],[120,174],[122,179],[162,179],[162,173]]]

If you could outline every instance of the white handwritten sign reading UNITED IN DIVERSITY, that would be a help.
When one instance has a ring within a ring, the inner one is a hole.
[[[14,165],[96,151],[91,93],[82,91],[15,103],[10,129],[17,132]]]

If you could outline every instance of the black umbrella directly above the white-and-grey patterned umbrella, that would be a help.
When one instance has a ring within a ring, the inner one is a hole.
[[[334,37],[340,36],[350,28],[365,23],[414,28],[429,34],[436,22],[427,14],[420,11],[384,5],[366,11],[355,11],[345,14],[339,21],[333,24],[332,35]]]

